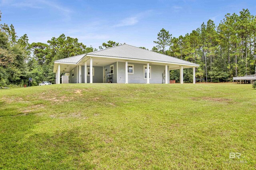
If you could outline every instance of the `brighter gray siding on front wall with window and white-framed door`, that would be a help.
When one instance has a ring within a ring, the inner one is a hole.
[[[147,80],[144,79],[144,65],[138,63],[129,63],[134,64],[134,74],[128,74],[128,83],[146,83]],[[151,79],[150,83],[162,83],[162,73],[164,73],[165,66],[161,65],[151,65]],[[169,70],[169,67],[168,67]],[[170,74],[168,71],[168,80],[170,79]],[[125,83],[125,63],[118,62],[118,83]],[[168,81],[169,83],[169,81]]]

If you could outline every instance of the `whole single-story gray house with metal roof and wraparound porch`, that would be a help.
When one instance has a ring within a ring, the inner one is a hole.
[[[132,45],[94,51],[54,61],[56,84],[60,84],[60,73],[69,73],[70,83],[169,83],[170,70],[195,68],[198,64],[175,57],[148,51]],[[148,69],[149,68],[149,69]]]

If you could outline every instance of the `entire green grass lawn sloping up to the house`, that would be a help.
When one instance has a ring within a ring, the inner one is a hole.
[[[0,169],[255,169],[255,96],[230,83],[0,90]]]

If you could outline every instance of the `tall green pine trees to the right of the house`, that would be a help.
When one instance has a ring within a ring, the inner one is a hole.
[[[205,82],[231,81],[233,76],[256,74],[256,16],[243,9],[240,14],[226,14],[216,26],[208,20],[185,36],[172,37],[165,29],[158,33],[152,51],[200,64],[196,77]],[[191,82],[192,69],[185,69],[184,79]],[[178,70],[172,71],[178,80]]]

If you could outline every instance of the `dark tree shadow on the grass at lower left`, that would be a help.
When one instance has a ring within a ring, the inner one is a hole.
[[[38,133],[43,117],[34,114],[0,117],[0,169],[93,169],[81,161],[88,152],[77,128]],[[52,125],[54,127],[54,125]]]

